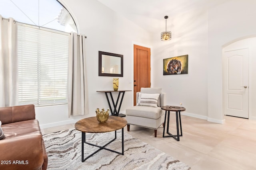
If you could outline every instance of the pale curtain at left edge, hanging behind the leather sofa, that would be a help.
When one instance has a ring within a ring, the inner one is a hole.
[[[0,16],[0,107],[18,105],[17,24]]]

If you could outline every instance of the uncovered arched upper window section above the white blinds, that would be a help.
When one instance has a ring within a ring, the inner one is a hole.
[[[4,18],[65,32],[78,32],[76,24],[57,0],[1,0],[0,15]]]

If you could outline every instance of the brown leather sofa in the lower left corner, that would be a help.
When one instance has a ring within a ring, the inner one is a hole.
[[[0,107],[5,138],[0,140],[0,170],[46,170],[48,157],[34,105]]]

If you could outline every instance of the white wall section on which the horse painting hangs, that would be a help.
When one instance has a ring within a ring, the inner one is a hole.
[[[167,105],[182,106],[182,114],[207,119],[207,13],[191,11],[170,18],[170,41],[161,41],[162,27],[154,33],[153,83],[167,93]],[[163,59],[188,55],[188,74],[163,76]]]

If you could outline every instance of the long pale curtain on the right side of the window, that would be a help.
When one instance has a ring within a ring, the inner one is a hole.
[[[88,109],[85,36],[70,34],[68,61],[68,115],[86,115]]]

